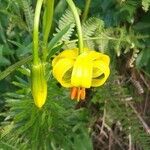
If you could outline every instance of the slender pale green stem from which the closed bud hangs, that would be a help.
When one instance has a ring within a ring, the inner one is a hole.
[[[39,20],[43,0],[38,0],[35,8],[34,27],[33,27],[33,64],[39,63]]]

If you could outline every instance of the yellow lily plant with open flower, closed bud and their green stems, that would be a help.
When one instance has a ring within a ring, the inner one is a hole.
[[[84,47],[81,22],[77,8],[72,0],[66,0],[73,13],[77,33],[78,46],[62,51],[52,61],[52,73],[56,80],[66,88],[71,88],[71,99],[84,100],[86,88],[103,85],[109,74],[109,56]],[[44,5],[43,41],[39,46],[39,22],[41,8]],[[47,99],[47,81],[45,66],[48,55],[48,37],[52,25],[54,0],[38,0],[33,29],[33,64],[31,69],[31,90],[35,105],[41,108]],[[42,56],[39,56],[41,48]]]

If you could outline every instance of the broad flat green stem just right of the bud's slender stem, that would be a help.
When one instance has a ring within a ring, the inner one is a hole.
[[[51,31],[52,21],[54,13],[54,0],[46,0],[45,11],[43,16],[43,61],[46,61],[47,58],[47,42],[49,33]]]

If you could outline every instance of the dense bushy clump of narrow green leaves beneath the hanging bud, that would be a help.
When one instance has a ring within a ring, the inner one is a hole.
[[[31,98],[29,83],[18,77],[17,80],[13,84],[19,90],[6,93],[7,107],[10,109],[3,114],[9,117],[3,122],[2,144],[7,139],[8,145],[15,148],[92,149],[85,128],[90,114],[86,109],[74,110],[75,103],[68,100],[68,92],[59,88],[53,78],[49,83],[47,102],[41,109],[35,106]]]

